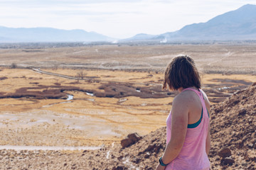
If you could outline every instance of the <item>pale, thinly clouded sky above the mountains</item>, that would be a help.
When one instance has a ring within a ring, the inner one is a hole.
[[[0,26],[159,35],[204,23],[256,0],[0,0]]]

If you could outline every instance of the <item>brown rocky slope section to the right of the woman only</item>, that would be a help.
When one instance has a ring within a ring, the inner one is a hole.
[[[256,84],[253,85],[212,107],[210,160],[213,167],[228,169],[218,157],[220,149],[228,147],[234,160],[232,169],[256,169]]]

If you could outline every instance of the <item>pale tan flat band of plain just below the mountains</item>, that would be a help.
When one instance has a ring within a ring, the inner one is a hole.
[[[164,72],[176,55],[190,55],[202,72],[255,73],[256,45],[94,45],[0,48],[0,65],[22,67],[137,69]]]

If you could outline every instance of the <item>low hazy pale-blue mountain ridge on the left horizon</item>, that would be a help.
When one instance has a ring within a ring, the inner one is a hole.
[[[0,26],[0,42],[95,42],[112,41],[95,32],[55,28],[7,28]]]

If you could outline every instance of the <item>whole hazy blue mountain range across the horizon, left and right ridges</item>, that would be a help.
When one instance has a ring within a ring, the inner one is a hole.
[[[109,38],[85,30],[55,28],[6,28],[0,26],[0,42],[112,42]],[[119,42],[174,42],[200,40],[256,40],[256,5],[247,4],[223,13],[206,23],[193,23],[180,30],[160,35],[137,34]]]

